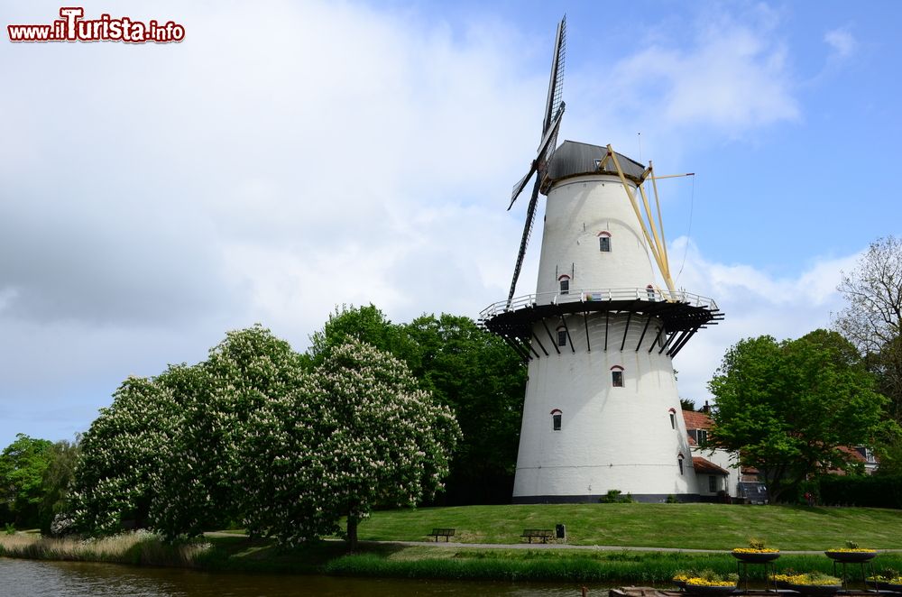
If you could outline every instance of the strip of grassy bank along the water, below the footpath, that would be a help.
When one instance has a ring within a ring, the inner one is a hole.
[[[280,550],[272,541],[241,536],[167,545],[149,533],[88,541],[5,536],[0,537],[0,556],[244,573],[603,583],[661,584],[677,571],[736,570],[736,560],[728,553],[364,542],[358,553],[347,554],[345,544],[337,541]],[[832,571],[823,555],[786,554],[777,564],[780,570]],[[881,554],[875,565],[902,569],[902,554]]]

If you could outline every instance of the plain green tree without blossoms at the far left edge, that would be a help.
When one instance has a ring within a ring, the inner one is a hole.
[[[6,520],[18,528],[38,526],[44,499],[43,476],[51,462],[52,443],[22,433],[0,454],[0,503]]]

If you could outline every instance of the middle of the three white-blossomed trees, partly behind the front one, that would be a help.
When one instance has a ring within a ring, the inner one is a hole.
[[[300,355],[262,326],[229,332],[200,363],[198,384],[179,393],[171,441],[161,446],[152,502],[153,526],[168,537],[195,536],[242,519],[249,507],[242,466],[248,419],[303,388]],[[262,505],[259,505],[262,507]]]

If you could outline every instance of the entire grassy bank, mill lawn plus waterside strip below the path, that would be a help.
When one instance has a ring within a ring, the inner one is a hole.
[[[566,545],[518,543],[524,528],[554,528],[558,521],[567,525]],[[454,527],[455,538],[463,540],[421,542],[433,527]],[[621,545],[587,543],[602,534]],[[151,533],[86,541],[20,533],[0,536],[0,556],[254,573],[666,584],[677,571],[735,572],[729,550],[752,536],[783,550],[778,570],[831,573],[833,564],[821,551],[847,539],[902,548],[902,514],[713,504],[471,506],[377,512],[360,535],[358,552],[347,554],[340,541],[284,550],[240,533],[211,533],[177,545]],[[705,548],[712,551],[686,551]],[[787,553],[799,549],[819,551]],[[881,553],[874,568],[902,570],[902,553]]]

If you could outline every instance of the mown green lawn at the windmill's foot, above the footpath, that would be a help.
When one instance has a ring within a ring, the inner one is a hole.
[[[823,550],[847,540],[902,549],[902,510],[724,504],[539,504],[374,512],[362,540],[424,541],[456,528],[462,543],[520,543],[524,528],[565,524],[572,545],[732,549],[757,537],[783,550]]]

